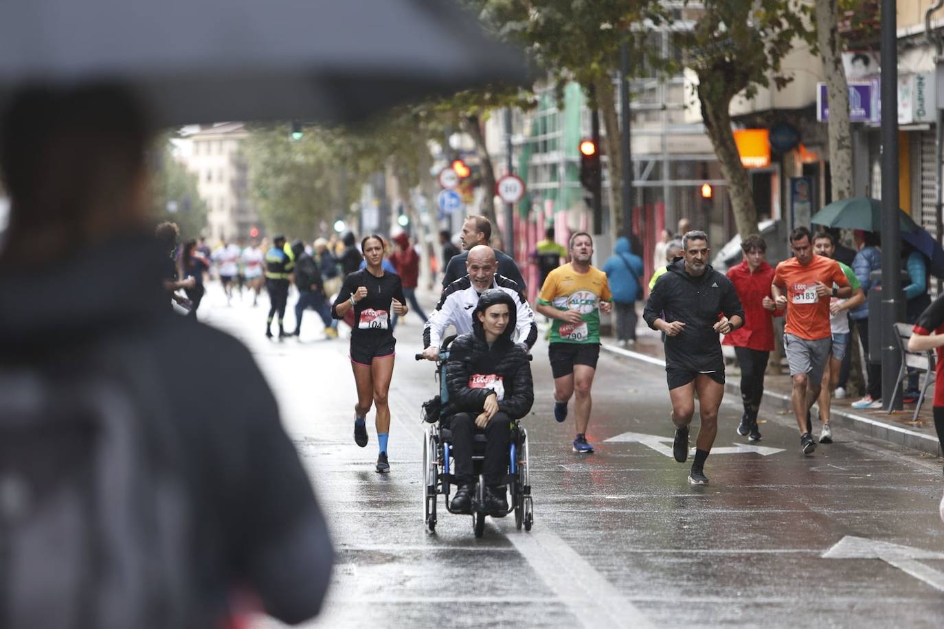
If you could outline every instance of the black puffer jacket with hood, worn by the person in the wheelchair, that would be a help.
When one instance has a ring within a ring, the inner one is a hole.
[[[489,346],[476,315],[496,304],[508,306],[508,325]],[[449,346],[446,386],[449,406],[456,412],[480,413],[485,398],[493,391],[498,397],[498,410],[511,419],[521,419],[531,411],[534,403],[531,363],[528,351],[512,340],[515,311],[511,295],[503,290],[485,290],[473,312],[472,333],[460,335]]]

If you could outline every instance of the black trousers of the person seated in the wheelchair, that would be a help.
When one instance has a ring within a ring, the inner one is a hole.
[[[472,413],[459,413],[449,420],[452,429],[452,456],[456,461],[455,477],[459,485],[471,485],[472,478],[472,437],[478,429]],[[511,442],[509,425],[512,420],[504,412],[498,411],[485,425],[485,460],[481,467],[487,487],[505,484],[508,473],[508,446]]]

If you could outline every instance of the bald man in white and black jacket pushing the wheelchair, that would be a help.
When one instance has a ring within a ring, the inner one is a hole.
[[[447,286],[439,304],[423,327],[423,356],[429,360],[439,357],[439,345],[451,323],[456,334],[472,332],[472,309],[479,303],[479,295],[488,289],[497,289],[512,297],[515,306],[513,340],[524,343],[528,349],[537,339],[537,323],[534,311],[520,294],[520,287],[511,279],[496,273],[495,251],[487,245],[477,245],[469,250],[465,263],[467,274]]]

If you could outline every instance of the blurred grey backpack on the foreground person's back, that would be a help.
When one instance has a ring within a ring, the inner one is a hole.
[[[0,364],[0,626],[193,623],[192,513],[148,356]]]

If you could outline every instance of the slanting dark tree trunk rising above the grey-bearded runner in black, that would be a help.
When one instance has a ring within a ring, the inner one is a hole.
[[[757,233],[757,208],[754,207],[754,198],[750,193],[748,172],[741,163],[741,156],[734,143],[734,134],[731,130],[731,100],[733,92],[719,91],[712,95],[704,86],[715,81],[724,81],[723,76],[706,74],[699,76],[699,99],[701,102],[701,118],[705,130],[715,147],[715,155],[721,166],[721,174],[728,182],[728,194],[731,198],[731,207],[734,214],[734,223],[741,238]],[[703,225],[707,231],[707,225]]]

